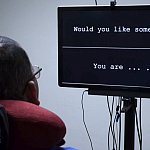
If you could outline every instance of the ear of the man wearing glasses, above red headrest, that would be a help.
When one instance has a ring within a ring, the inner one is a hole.
[[[34,81],[29,81],[27,83],[26,89],[25,89],[25,97],[28,102],[39,105],[40,102],[38,100],[38,89],[34,83]]]

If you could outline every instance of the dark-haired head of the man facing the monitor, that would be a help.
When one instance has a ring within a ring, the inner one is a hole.
[[[0,36],[0,100],[38,102],[38,86],[32,65],[23,48],[14,40]]]

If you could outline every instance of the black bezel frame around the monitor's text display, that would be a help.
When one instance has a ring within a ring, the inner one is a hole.
[[[62,13],[66,11],[122,11],[122,10],[149,10],[150,5],[123,5],[123,6],[60,6],[58,7],[58,85],[60,87],[70,88],[86,88],[89,94],[126,96],[126,97],[150,97],[150,87],[141,86],[125,86],[125,85],[102,85],[102,84],[82,84],[82,83],[66,83],[63,82],[62,67]]]

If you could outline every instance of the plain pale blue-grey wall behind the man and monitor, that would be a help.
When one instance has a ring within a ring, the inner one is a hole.
[[[109,5],[110,1],[98,1]],[[148,0],[122,0],[122,4],[147,4]],[[40,85],[41,105],[56,112],[66,123],[66,146],[90,150],[82,122],[81,95],[84,89],[57,85],[57,6],[95,5],[94,0],[0,0],[0,35],[18,41],[33,64],[43,68]],[[110,97],[111,98],[111,97]],[[84,96],[86,123],[95,150],[107,149],[109,113],[104,96]],[[150,101],[142,101],[143,149],[149,150]],[[123,143],[122,143],[123,145]],[[138,139],[136,138],[136,150]]]

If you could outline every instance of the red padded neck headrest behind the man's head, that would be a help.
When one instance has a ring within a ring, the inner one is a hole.
[[[8,113],[11,150],[48,149],[65,136],[64,122],[45,108],[17,100],[0,100],[0,104]]]

